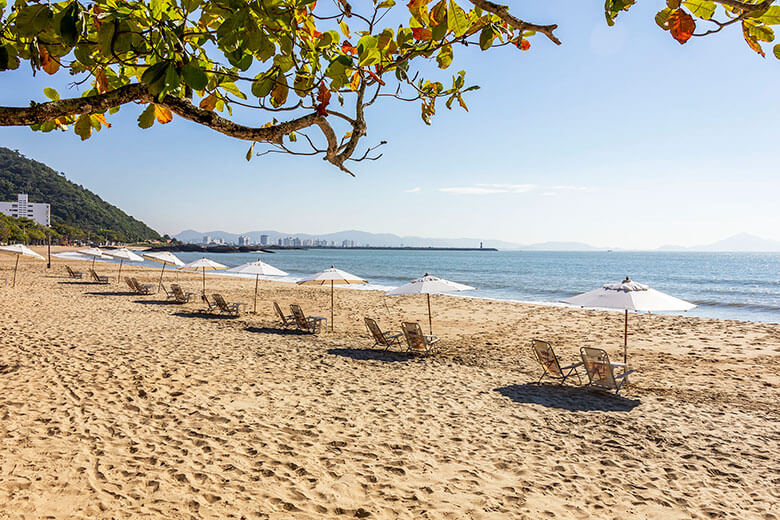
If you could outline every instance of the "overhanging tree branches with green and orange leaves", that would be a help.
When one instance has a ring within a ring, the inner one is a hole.
[[[361,142],[375,103],[417,102],[426,123],[442,105],[468,110],[466,94],[478,87],[465,71],[446,83],[426,78],[449,68],[458,48],[524,52],[538,38],[561,43],[556,25],[488,0],[7,1],[0,0],[0,70],[26,62],[32,74],[69,74],[88,88],[72,99],[46,88],[48,102],[0,107],[0,125],[72,127],[87,139],[110,127],[121,105],[143,103],[141,128],[176,114],[250,141],[247,160],[262,143],[257,155],[319,155],[346,172],[351,161],[380,155],[384,141]],[[634,3],[606,0],[606,22]],[[681,44],[733,28],[753,51],[780,59],[780,45],[767,45],[780,24],[774,3],[667,0],[655,21]],[[383,23],[402,9],[408,24]],[[259,110],[264,123],[235,122],[239,109]]]

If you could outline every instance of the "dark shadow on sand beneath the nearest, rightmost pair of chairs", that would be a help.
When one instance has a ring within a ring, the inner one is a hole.
[[[570,412],[630,412],[639,399],[588,390],[583,387],[526,383],[496,388],[494,391],[516,403],[538,404]]]

